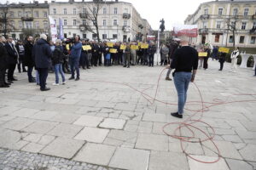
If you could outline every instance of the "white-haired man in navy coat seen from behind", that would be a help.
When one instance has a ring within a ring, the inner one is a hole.
[[[36,68],[38,69],[40,79],[40,90],[48,91],[50,88],[46,88],[46,79],[48,77],[48,68],[50,59],[52,58],[52,52],[47,42],[47,36],[41,34],[40,39],[33,47],[32,57],[35,59]]]

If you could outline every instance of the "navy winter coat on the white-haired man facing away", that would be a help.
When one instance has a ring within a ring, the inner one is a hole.
[[[49,43],[44,39],[39,39],[34,45],[32,57],[35,59],[37,68],[49,68],[52,52],[49,48]]]

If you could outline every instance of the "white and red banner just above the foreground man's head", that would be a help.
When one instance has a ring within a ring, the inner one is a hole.
[[[177,25],[173,26],[173,35],[177,37],[197,37],[197,25]]]

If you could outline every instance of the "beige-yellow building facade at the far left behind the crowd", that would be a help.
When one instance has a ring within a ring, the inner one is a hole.
[[[24,39],[27,31],[34,34],[49,31],[49,4],[38,3],[10,3],[0,6],[0,30],[16,39]]]

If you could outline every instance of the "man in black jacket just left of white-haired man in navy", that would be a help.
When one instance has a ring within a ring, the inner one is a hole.
[[[25,48],[25,56],[24,56],[24,64],[27,66],[27,77],[28,82],[36,82],[35,78],[32,77],[32,71],[34,64],[34,59],[32,58],[32,49],[33,49],[33,37],[29,36],[26,38],[26,43],[24,45]]]

